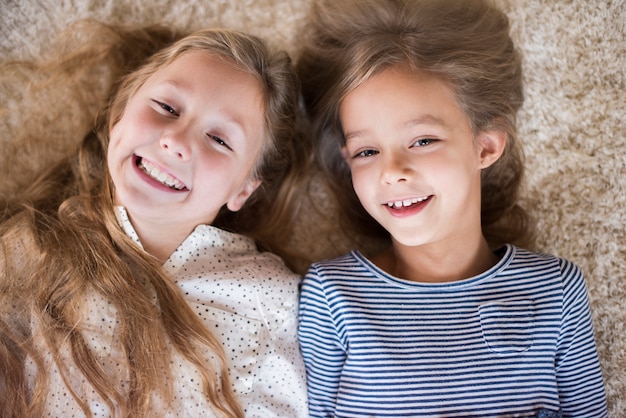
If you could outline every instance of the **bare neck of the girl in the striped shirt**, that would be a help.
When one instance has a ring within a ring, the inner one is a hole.
[[[394,243],[372,262],[385,272],[405,280],[444,283],[474,277],[498,262],[486,239],[481,235],[473,245],[424,245],[406,247]]]

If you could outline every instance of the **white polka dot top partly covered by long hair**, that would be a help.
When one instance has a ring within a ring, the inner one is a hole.
[[[120,225],[141,245],[126,211],[118,209]],[[299,277],[275,255],[260,253],[250,238],[208,225],[198,226],[164,268],[222,343],[229,377],[246,417],[306,417],[306,378],[297,342]],[[125,385],[126,360],[120,355],[116,324],[117,312],[111,304],[98,295],[90,298],[81,324],[85,341],[98,354],[103,371]],[[214,361],[208,353],[207,357]],[[50,358],[46,367],[52,387],[48,416],[82,416]],[[213,416],[195,367],[174,355],[171,370],[173,404],[161,405],[155,416]],[[28,371],[35,375],[32,363]],[[94,416],[111,416],[106,403],[78,373],[73,373],[72,388],[88,401]]]

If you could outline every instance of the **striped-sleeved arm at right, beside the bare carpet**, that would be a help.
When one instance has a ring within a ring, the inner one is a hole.
[[[585,280],[573,263],[561,259],[560,267],[564,295],[556,376],[563,416],[606,417],[606,395]]]

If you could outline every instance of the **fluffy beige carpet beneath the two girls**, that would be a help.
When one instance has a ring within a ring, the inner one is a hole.
[[[525,57],[520,136],[528,160],[526,194],[539,221],[539,249],[584,269],[610,416],[624,417],[626,2],[498,1],[511,18]],[[310,0],[0,0],[0,59],[38,56],[55,33],[85,17],[115,23],[164,22],[186,30],[239,28],[295,55],[293,39],[309,4]],[[5,190],[19,187],[27,178],[24,173],[54,158],[74,140],[69,133],[76,125],[88,123],[73,116],[76,104],[58,98],[53,102],[45,94],[22,97],[21,91],[14,85],[0,91],[2,104],[12,109],[0,117],[0,187]],[[53,129],[55,118],[62,118],[66,127]],[[20,144],[12,135],[16,124],[46,121],[48,125],[39,130],[39,144]],[[303,223],[303,231],[314,230],[307,227],[307,219]],[[325,237],[314,232],[305,236],[315,254],[332,255]]]

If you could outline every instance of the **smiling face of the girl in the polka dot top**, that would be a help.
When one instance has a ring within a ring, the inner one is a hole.
[[[138,232],[186,236],[255,190],[264,133],[260,82],[219,57],[184,53],[148,78],[111,129],[116,203]]]

